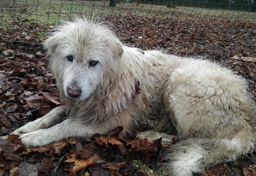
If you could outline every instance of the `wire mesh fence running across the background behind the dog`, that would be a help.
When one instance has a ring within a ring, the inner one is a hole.
[[[23,45],[24,47],[21,47],[23,50],[29,47],[36,49],[56,23],[77,16],[106,23],[130,16],[133,24],[141,18],[150,17],[156,17],[157,20],[176,19],[176,21],[179,17],[188,17],[191,20],[206,18],[251,22],[255,22],[256,19],[256,3],[252,0],[115,0],[115,6],[109,6],[109,1],[84,0],[1,0],[0,2],[1,51],[11,47],[12,44]],[[126,24],[122,25],[125,28]],[[28,50],[28,52],[33,51]]]

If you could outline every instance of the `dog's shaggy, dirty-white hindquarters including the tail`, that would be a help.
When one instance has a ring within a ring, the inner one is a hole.
[[[170,79],[166,104],[181,141],[167,151],[162,167],[166,175],[204,172],[207,166],[234,161],[254,150],[256,109],[246,82],[210,66],[204,65],[219,72],[207,74],[201,67],[189,72],[196,69],[193,65]]]

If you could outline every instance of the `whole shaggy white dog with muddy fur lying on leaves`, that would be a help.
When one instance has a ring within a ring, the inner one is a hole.
[[[180,139],[166,153],[166,174],[203,172],[255,147],[255,102],[227,68],[127,47],[106,26],[82,19],[59,26],[44,45],[65,105],[14,131],[25,145],[117,126],[127,134],[154,117],[156,127],[138,137],[173,132]]]

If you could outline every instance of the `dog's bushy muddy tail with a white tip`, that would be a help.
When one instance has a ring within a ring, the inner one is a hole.
[[[205,167],[234,161],[237,157],[253,152],[255,131],[252,125],[238,131],[233,138],[189,138],[168,148],[161,167],[163,175],[193,175],[203,173]]]

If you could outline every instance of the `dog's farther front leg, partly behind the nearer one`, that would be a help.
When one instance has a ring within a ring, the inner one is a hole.
[[[16,129],[12,132],[12,134],[17,134],[20,136],[20,134],[24,134],[27,132],[33,132],[39,129],[46,129],[51,127],[52,125],[60,123],[65,119],[65,117],[67,117],[65,106],[59,106],[52,109],[49,113],[47,113],[47,115],[42,116],[41,118],[38,118],[33,122],[29,122],[28,124],[20,127],[19,129]]]

